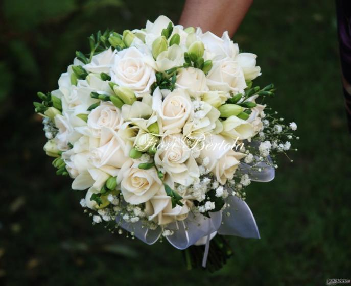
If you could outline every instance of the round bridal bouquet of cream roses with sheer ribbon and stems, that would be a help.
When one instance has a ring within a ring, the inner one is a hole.
[[[93,224],[147,244],[185,249],[189,268],[220,268],[222,235],[259,238],[245,203],[251,181],[268,182],[296,124],[263,102],[252,81],[256,55],[227,32],[174,26],[165,16],[141,30],[100,31],[76,52],[58,89],[38,92],[46,154]]]

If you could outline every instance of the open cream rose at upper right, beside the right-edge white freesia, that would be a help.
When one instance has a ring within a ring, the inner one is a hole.
[[[230,58],[214,61],[207,75],[207,85],[210,90],[244,92],[246,82],[239,63]]]

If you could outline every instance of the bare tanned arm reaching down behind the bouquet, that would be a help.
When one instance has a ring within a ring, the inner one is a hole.
[[[200,27],[218,36],[228,30],[232,37],[237,31],[253,0],[186,0],[180,17],[184,28]]]

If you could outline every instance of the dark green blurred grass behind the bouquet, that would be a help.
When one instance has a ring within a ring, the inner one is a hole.
[[[298,124],[301,139],[294,146],[299,151],[291,153],[294,163],[280,158],[273,182],[252,183],[247,190],[262,239],[231,237],[234,255],[213,274],[186,271],[182,253],[166,242],[147,246],[92,226],[79,205],[83,194],[55,175],[41,150],[44,134],[31,105],[37,90],[56,88],[90,33],[143,27],[158,14],[177,21],[182,2],[133,1],[80,11],[87,2],[65,1],[40,22],[12,7],[23,3],[4,1],[0,28],[7,55],[0,65],[1,282],[323,285],[327,278],[350,278],[351,145],[334,2],[257,1],[235,36],[243,51],[258,54],[262,76],[256,83],[275,84],[271,106]]]

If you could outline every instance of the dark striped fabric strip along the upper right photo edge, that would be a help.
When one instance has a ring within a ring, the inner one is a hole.
[[[343,91],[348,127],[351,133],[351,0],[337,0],[336,11]]]

